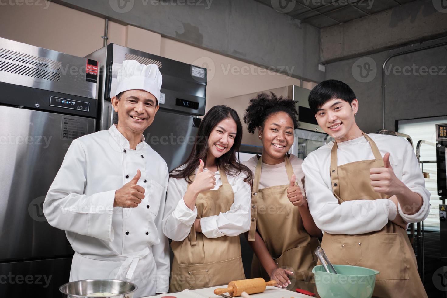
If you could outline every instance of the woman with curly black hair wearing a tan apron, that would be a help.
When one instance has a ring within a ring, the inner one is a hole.
[[[244,163],[254,172],[248,236],[255,254],[251,277],[275,280],[279,287],[315,291],[313,252],[321,231],[307,205],[303,160],[287,154],[298,127],[297,115],[295,101],[273,92],[258,94],[245,110],[249,132],[256,132],[262,142],[262,155]]]

